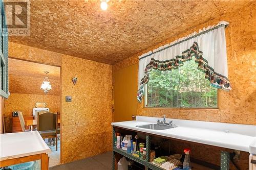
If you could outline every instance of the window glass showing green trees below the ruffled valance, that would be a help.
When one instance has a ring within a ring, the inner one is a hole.
[[[217,108],[217,88],[204,78],[194,59],[172,71],[150,72],[145,106],[163,108]]]

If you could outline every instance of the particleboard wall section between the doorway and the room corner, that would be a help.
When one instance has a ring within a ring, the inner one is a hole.
[[[111,151],[112,65],[65,56],[61,67],[62,162]]]

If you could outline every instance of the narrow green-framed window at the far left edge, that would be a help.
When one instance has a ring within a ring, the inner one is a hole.
[[[0,66],[1,66],[1,89],[0,94],[4,98],[8,98],[8,30],[6,25],[5,13],[4,13],[4,4],[1,1],[0,3],[1,11],[1,21],[0,21]]]

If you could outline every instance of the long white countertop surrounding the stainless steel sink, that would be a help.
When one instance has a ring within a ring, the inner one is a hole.
[[[157,118],[137,116],[137,120],[116,122],[112,126],[256,154],[252,145],[256,140],[256,126],[172,119],[177,128],[152,130],[136,127],[156,123]],[[169,120],[166,118],[166,122]],[[256,142],[254,144],[256,147]]]

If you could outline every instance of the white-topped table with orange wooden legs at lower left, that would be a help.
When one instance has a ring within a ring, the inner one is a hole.
[[[38,131],[0,134],[0,167],[41,160],[48,170],[50,148]]]

